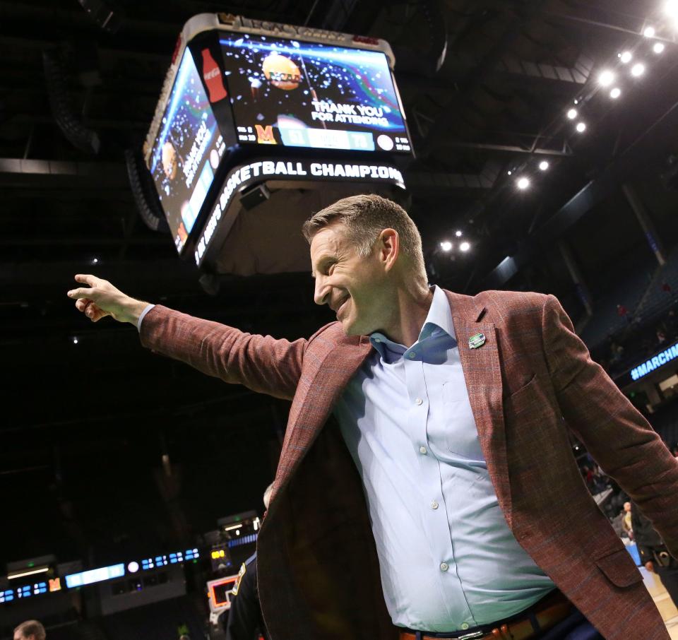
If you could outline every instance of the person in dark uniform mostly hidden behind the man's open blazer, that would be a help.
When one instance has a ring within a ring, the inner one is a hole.
[[[267,511],[272,491],[273,483],[263,492],[263,506]],[[226,640],[255,640],[259,634],[268,640],[256,584],[256,552],[242,563],[232,593],[234,598],[228,612]]]

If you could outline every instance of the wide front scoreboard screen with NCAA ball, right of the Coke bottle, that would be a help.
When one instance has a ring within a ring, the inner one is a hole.
[[[410,153],[385,53],[242,33],[219,44],[239,142]]]

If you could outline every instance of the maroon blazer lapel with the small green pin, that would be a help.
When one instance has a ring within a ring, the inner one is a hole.
[[[496,330],[491,322],[482,322],[485,308],[473,298],[446,292],[452,309],[461,367],[478,429],[480,447],[487,470],[499,499],[499,506],[511,526],[511,487],[506,462],[506,432],[502,401],[501,368]],[[469,339],[483,333],[484,343],[470,348]]]

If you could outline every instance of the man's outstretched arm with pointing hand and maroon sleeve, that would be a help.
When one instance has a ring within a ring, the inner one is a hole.
[[[91,321],[112,316],[138,326],[147,302],[136,300],[95,275],[76,275],[82,287],[69,291],[76,308]],[[291,399],[297,389],[307,340],[275,340],[201,320],[157,305],[145,314],[141,343],[182,360],[210,376],[244,384],[253,391]]]

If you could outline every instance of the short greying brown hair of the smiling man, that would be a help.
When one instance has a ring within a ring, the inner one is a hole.
[[[414,270],[426,280],[422,237],[417,225],[399,204],[376,194],[342,198],[311,215],[302,227],[309,244],[323,227],[338,223],[345,227],[350,242],[359,256],[369,256],[377,237],[384,229],[395,229],[400,246]]]

